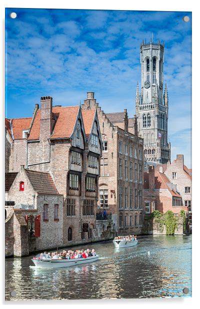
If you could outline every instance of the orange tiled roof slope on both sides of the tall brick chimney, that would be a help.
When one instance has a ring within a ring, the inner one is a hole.
[[[52,107],[52,121],[55,121],[50,138],[68,138],[71,136],[79,106]],[[32,123],[28,140],[39,139],[40,109],[37,110]]]

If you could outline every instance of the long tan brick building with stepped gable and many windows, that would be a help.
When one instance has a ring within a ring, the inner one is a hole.
[[[143,217],[143,140],[137,136],[136,118],[127,111],[105,113],[93,92],[81,105],[96,110],[103,143],[100,161],[98,212],[111,213],[117,233],[140,233]]]

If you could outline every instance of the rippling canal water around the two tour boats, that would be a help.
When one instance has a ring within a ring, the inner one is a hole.
[[[115,249],[112,242],[104,242],[92,248],[98,261],[70,268],[35,269],[32,256],[7,258],[5,299],[191,296],[191,236],[147,236],[135,247]],[[12,290],[16,297],[10,296]]]

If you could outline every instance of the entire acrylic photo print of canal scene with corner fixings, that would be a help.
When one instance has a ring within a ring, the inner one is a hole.
[[[5,300],[190,297],[191,12],[7,8],[5,60]]]

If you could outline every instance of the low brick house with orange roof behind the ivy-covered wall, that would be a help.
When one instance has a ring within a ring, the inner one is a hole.
[[[154,210],[161,213],[168,210],[173,213],[179,213],[181,209],[187,210],[182,204],[182,198],[176,185],[170,182],[163,173],[162,167],[155,171],[154,166],[149,166],[148,172],[144,173],[144,204],[146,214],[150,214]]]

